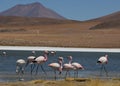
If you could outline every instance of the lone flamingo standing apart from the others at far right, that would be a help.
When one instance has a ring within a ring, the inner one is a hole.
[[[108,63],[108,55],[101,56],[101,57],[98,59],[97,63],[99,63],[99,64],[102,65],[102,66],[101,66],[100,75],[101,75],[101,73],[102,73],[102,70],[104,70],[104,71],[106,72],[106,76],[108,76],[108,72],[107,72],[107,70],[106,70],[106,68],[105,68],[105,65],[104,65],[104,64],[107,64],[107,63]]]

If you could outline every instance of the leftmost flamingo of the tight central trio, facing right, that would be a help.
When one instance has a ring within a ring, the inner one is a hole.
[[[56,80],[56,71],[59,71],[59,75],[61,75],[62,73],[62,69],[63,69],[63,57],[59,57],[58,58],[58,63],[50,63],[48,66],[51,67],[54,70],[54,78]]]

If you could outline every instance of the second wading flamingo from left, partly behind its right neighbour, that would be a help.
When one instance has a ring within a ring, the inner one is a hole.
[[[27,67],[28,64],[30,64],[30,66],[31,66],[31,75],[32,75],[32,71],[33,71],[33,69],[35,67],[35,58],[36,58],[35,57],[35,51],[32,51],[32,55],[27,58],[27,63],[25,65],[25,67]]]

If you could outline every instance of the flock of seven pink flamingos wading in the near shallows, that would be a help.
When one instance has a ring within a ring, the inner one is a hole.
[[[38,69],[40,66],[42,71],[44,72],[44,74],[47,77],[48,74],[45,71],[43,64],[45,64],[49,60],[49,58],[48,58],[49,54],[54,56],[54,55],[56,55],[56,52],[55,51],[51,51],[51,52],[44,51],[43,55],[36,57],[35,51],[32,51],[32,55],[28,56],[26,61],[23,59],[18,59],[16,61],[16,73],[19,75],[19,80],[24,80],[23,79],[24,71],[28,65],[30,65],[30,74],[31,75],[33,74],[34,71],[35,71],[35,75],[37,75]],[[64,62],[64,58],[60,56],[57,58],[56,62],[51,62],[48,64],[48,67],[50,67],[53,70],[55,80],[57,79],[57,74],[61,75],[63,71],[65,71],[64,78],[66,78],[68,75],[70,77],[71,71],[74,71],[74,78],[78,78],[78,71],[84,70],[83,65],[81,65],[78,62],[74,62],[72,56],[68,56],[67,59],[68,59],[68,63]],[[102,71],[104,70],[106,73],[106,76],[108,76],[108,72],[105,68],[105,64],[108,63],[108,55],[101,56],[97,60],[97,63],[101,65],[100,74],[102,74]]]

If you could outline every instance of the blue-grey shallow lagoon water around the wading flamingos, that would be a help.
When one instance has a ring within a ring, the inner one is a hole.
[[[6,52],[6,56],[3,55],[3,52]],[[32,50],[5,50],[1,49],[0,51],[0,81],[1,82],[11,82],[18,80],[18,76],[15,73],[16,68],[16,60],[17,59],[24,59],[26,60],[28,56],[31,55]],[[108,77],[105,76],[103,73],[100,76],[100,65],[96,64],[97,59],[100,56],[108,54],[109,62],[106,66],[108,71]],[[36,50],[36,57],[43,55],[43,51]],[[46,77],[42,70],[39,68],[38,75],[30,75],[30,66],[28,66],[25,70],[24,79],[25,80],[34,80],[34,79],[53,79],[54,72],[53,70],[48,67],[48,64],[51,62],[57,62],[57,58],[59,56],[64,57],[64,63],[68,63],[67,56],[73,56],[73,62],[78,62],[82,64],[85,70],[79,71],[79,77],[85,78],[119,78],[120,77],[120,52],[87,52],[87,51],[57,51],[55,56],[49,55],[48,61],[43,64],[45,71],[47,72],[48,76]],[[71,71],[71,77],[73,77],[74,72]],[[65,76],[65,71],[62,73],[63,79]]]

